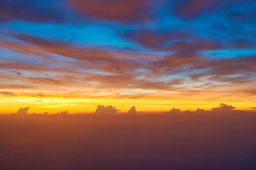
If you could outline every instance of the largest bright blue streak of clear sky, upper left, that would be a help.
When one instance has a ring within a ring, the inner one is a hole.
[[[112,28],[99,25],[79,25],[70,24],[41,24],[10,22],[7,27],[20,34],[30,34],[47,39],[58,39],[62,41],[73,41],[77,45],[107,45],[117,47],[136,46],[131,42],[123,41],[116,35]]]

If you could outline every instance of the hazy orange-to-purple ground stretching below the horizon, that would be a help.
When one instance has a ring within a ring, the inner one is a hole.
[[[255,114],[0,116],[0,170],[255,170]]]

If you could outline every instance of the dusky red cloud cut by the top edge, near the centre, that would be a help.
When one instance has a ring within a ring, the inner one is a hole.
[[[151,0],[69,0],[69,5],[85,18],[137,23],[148,20]]]

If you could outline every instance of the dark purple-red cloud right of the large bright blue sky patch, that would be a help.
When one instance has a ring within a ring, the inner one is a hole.
[[[171,31],[157,29],[130,29],[119,31],[119,36],[152,50],[166,52],[186,52],[193,54],[195,51],[223,48],[221,43],[204,40],[193,34],[188,28]]]

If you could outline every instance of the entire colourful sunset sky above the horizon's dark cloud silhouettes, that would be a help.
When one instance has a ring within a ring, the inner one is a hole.
[[[256,107],[255,0],[1,0],[0,113]]]

